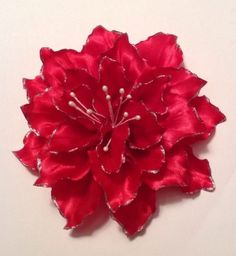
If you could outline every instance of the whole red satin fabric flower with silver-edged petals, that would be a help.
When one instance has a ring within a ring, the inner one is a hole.
[[[80,52],[40,52],[40,76],[24,80],[30,132],[15,152],[38,174],[35,185],[77,227],[100,204],[128,235],[155,212],[156,191],[212,190],[207,160],[190,144],[208,138],[224,115],[205,96],[205,81],[182,66],[174,35],[136,45],[96,27]]]

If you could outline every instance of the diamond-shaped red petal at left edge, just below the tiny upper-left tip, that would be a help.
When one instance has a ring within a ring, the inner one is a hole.
[[[55,108],[48,92],[38,95],[21,109],[29,125],[44,137],[50,136],[66,119],[66,116]]]

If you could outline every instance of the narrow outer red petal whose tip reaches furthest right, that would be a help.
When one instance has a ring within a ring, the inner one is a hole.
[[[196,109],[198,116],[206,127],[205,138],[209,137],[217,124],[225,120],[225,115],[220,112],[219,108],[211,104],[205,96],[194,98],[191,105]]]

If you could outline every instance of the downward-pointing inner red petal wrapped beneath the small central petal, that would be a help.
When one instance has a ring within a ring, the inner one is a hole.
[[[107,174],[99,164],[96,151],[90,152],[90,160],[95,180],[101,185],[111,211],[132,201],[141,185],[141,172],[137,165],[126,161],[119,173]]]

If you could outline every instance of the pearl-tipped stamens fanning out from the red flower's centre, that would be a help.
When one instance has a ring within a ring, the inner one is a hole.
[[[123,125],[125,123],[128,123],[130,121],[138,121],[141,119],[140,115],[135,115],[132,117],[129,117],[128,112],[123,112],[121,115],[121,119],[119,120],[120,116],[120,111],[122,105],[127,102],[128,100],[132,99],[132,96],[130,94],[127,94],[125,96],[125,89],[120,88],[119,89],[119,105],[117,107],[116,113],[114,113],[114,109],[112,107],[112,102],[111,102],[111,95],[109,94],[108,86],[103,85],[102,86],[102,91],[104,92],[104,96],[108,105],[108,110],[109,110],[109,118],[111,121],[111,126],[112,128],[116,128],[120,125]],[[77,111],[79,111],[81,114],[83,114],[85,117],[87,117],[89,120],[102,125],[104,123],[104,119],[106,117],[100,113],[98,113],[95,109],[87,108],[76,96],[74,92],[70,92],[71,100],[68,102],[68,105]],[[108,140],[107,144],[103,147],[103,151],[107,152],[109,150],[109,145],[111,143],[111,138]]]

